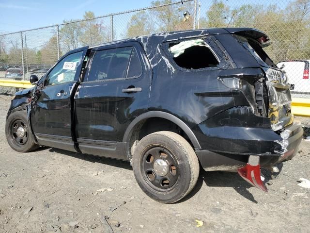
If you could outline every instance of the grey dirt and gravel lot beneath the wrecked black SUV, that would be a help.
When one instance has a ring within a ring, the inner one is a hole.
[[[201,170],[185,200],[161,204],[140,190],[129,163],[51,148],[12,150],[4,135],[10,98],[0,96],[1,233],[108,233],[105,222],[115,233],[310,232],[310,189],[297,185],[310,179],[309,141],[279,164],[279,176],[264,171],[268,193],[237,173]]]

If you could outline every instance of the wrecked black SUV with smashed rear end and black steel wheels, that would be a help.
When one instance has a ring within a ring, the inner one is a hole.
[[[237,170],[267,191],[261,167],[297,152],[286,74],[250,28],[140,36],[72,50],[14,96],[6,137],[130,161],[142,190],[172,203],[206,171]],[[275,167],[273,167],[275,168]]]

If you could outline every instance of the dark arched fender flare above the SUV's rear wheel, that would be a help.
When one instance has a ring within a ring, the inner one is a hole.
[[[164,118],[164,119],[172,121],[174,124],[179,126],[184,131],[184,133],[186,133],[186,135],[188,136],[189,140],[191,141],[191,143],[193,144],[195,149],[201,149],[201,146],[197,140],[197,137],[195,136],[193,131],[188,127],[188,125],[186,125],[186,123],[184,121],[182,121],[180,118],[178,118],[176,116],[173,116],[170,113],[161,112],[161,111],[150,111],[150,112],[143,113],[143,114],[137,116],[127,127],[127,129],[124,133],[123,142],[129,142],[130,137],[133,133],[133,129],[142,120],[145,120],[145,119],[148,119],[151,117],[159,117],[159,118]]]

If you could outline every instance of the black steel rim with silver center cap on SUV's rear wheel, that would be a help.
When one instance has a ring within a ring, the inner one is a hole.
[[[177,159],[166,148],[152,147],[143,155],[142,175],[144,180],[155,189],[171,188],[179,179]]]

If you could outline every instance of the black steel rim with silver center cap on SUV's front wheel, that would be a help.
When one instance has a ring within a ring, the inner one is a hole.
[[[10,127],[10,136],[17,146],[22,146],[28,141],[28,128],[24,121],[16,119]]]

